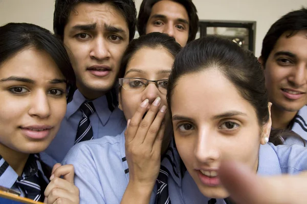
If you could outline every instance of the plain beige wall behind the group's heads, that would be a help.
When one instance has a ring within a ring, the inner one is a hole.
[[[200,19],[257,21],[256,56],[270,25],[289,11],[307,7],[306,0],[193,0]],[[136,0],[137,8],[141,0]],[[0,0],[0,25],[31,22],[52,31],[54,0]]]

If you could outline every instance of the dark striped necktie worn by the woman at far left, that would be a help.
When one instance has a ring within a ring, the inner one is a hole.
[[[19,190],[25,193],[25,197],[42,202],[45,198],[43,196],[43,191],[45,189],[42,191],[40,185],[42,185],[41,182],[45,182],[40,180],[39,174],[40,172],[38,170],[36,158],[34,155],[30,155],[23,176],[18,176],[15,184]],[[44,186],[47,186],[47,184],[44,184]]]

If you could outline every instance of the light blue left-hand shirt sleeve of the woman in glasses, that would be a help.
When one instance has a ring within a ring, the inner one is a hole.
[[[75,145],[69,151],[62,164],[74,165],[74,182],[80,191],[80,204],[106,203],[94,161],[82,152],[79,145]]]

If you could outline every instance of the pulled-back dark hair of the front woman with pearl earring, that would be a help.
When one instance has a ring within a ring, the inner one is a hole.
[[[236,87],[242,97],[255,109],[260,126],[270,118],[264,71],[257,58],[230,40],[209,36],[196,39],[177,55],[169,77],[167,103],[171,115],[171,96],[183,75],[215,67]],[[281,141],[278,134],[270,141]]]

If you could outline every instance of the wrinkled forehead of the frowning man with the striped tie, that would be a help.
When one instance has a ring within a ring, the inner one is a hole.
[[[108,3],[79,3],[70,12],[65,29],[76,24],[97,24],[96,29],[103,29],[104,24],[119,27],[128,33],[128,24],[124,16],[113,5]]]

